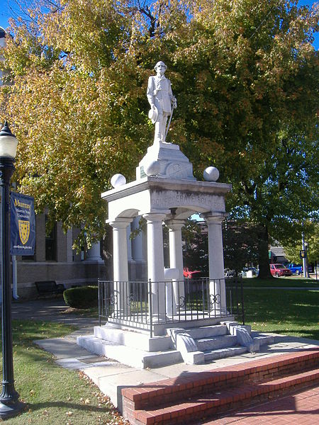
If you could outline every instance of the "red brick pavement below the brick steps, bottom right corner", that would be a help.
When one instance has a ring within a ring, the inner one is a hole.
[[[258,404],[202,425],[319,424],[319,387]]]

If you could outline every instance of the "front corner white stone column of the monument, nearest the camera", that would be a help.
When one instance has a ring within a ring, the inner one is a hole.
[[[144,214],[147,220],[147,277],[151,280],[150,302],[152,302],[152,322],[167,320],[165,313],[164,252],[162,212]]]

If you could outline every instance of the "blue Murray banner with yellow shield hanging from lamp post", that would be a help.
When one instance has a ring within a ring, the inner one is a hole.
[[[34,199],[11,192],[10,210],[11,255],[34,255]]]

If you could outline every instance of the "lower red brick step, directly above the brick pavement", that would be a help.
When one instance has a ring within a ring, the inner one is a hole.
[[[263,401],[284,395],[302,387],[309,387],[319,382],[319,368],[308,370],[298,375],[279,378],[271,382],[246,383],[240,387],[224,389],[203,397],[189,399],[173,406],[154,410],[135,410],[131,412],[131,424],[134,425],[172,425],[186,424],[203,417],[239,409],[252,402]]]

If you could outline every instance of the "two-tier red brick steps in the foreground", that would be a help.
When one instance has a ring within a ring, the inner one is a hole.
[[[318,366],[319,350],[312,348],[125,388],[123,415],[132,425],[185,424],[219,413],[224,405],[230,409],[243,400],[249,404],[314,385]]]

